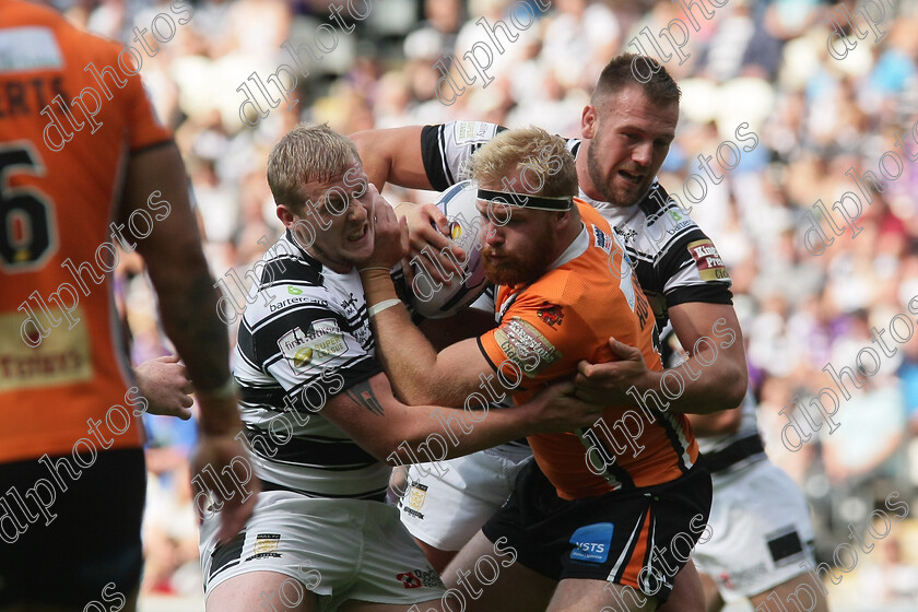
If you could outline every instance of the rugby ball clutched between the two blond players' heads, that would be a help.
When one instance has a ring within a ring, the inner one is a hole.
[[[434,202],[446,215],[448,237],[466,252],[466,261],[457,261],[462,278],[456,279],[454,272],[452,282],[445,284],[432,276],[429,258],[414,257],[411,260],[414,279],[408,291],[414,310],[424,318],[451,317],[478,299],[487,286],[481,262],[481,217],[475,208],[476,200],[478,189],[472,181],[463,180],[440,193]]]

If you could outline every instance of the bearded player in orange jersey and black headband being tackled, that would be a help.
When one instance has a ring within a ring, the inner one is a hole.
[[[541,178],[538,188],[522,179],[527,170]],[[399,396],[457,405],[485,385],[492,397],[480,403],[507,393],[525,401],[549,381],[572,377],[581,360],[614,360],[610,336],[661,370],[646,298],[609,224],[574,199],[577,174],[564,141],[538,128],[505,131],[472,156],[471,177],[482,260],[499,285],[498,327],[437,353],[404,308],[379,311],[374,337]],[[509,192],[507,185],[519,187]],[[386,221],[395,213],[379,214],[377,250],[361,274],[368,304],[395,297],[386,270],[403,255],[399,227]],[[507,361],[516,368],[497,365]],[[444,573],[448,586],[466,589],[468,610],[599,610],[622,602],[652,610],[667,599],[691,552],[676,553],[671,542],[688,538],[693,545],[704,531],[710,478],[695,463],[684,415],[659,413],[628,437],[615,426],[627,410],[611,405],[590,428],[529,437],[536,462]],[[455,438],[461,445],[461,432]],[[480,577],[481,555],[504,538],[516,562],[493,580]]]

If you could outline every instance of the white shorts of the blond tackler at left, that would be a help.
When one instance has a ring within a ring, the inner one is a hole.
[[[217,513],[201,525],[207,595],[248,572],[290,576],[302,588],[282,587],[285,597],[295,599],[297,592],[305,597],[305,591],[313,591],[319,596],[320,612],[336,610],[350,599],[410,605],[446,592],[399,521],[398,511],[380,502],[268,491],[259,495],[245,529],[217,548],[219,523]]]

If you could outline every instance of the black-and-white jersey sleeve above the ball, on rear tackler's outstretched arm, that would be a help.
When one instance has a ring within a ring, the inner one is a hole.
[[[466,163],[472,153],[505,129],[485,121],[424,126],[421,130],[421,155],[431,186],[444,191],[462,180]]]

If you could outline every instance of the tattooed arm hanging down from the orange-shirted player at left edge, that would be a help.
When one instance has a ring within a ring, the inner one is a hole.
[[[175,144],[131,154],[119,222],[128,223],[134,211],[144,211],[145,219],[153,219],[149,236],[137,240],[137,250],[156,290],[163,327],[198,390],[200,435],[191,459],[192,476],[211,467],[221,481],[216,486],[213,479],[192,479],[192,483],[210,483],[219,499],[220,486],[229,491],[239,479],[234,473],[242,469],[237,458],[245,458],[248,451],[235,437],[242,424],[229,377],[226,326],[216,316],[217,293],[188,199],[185,165]],[[122,246],[134,248],[132,244]],[[256,501],[257,495],[245,499],[234,495],[222,502],[221,540],[238,533]]]

